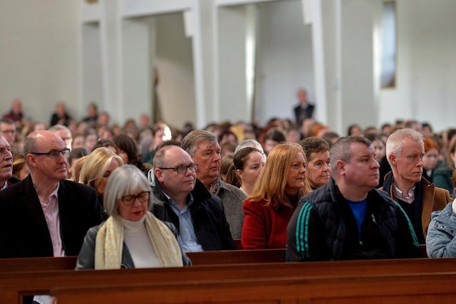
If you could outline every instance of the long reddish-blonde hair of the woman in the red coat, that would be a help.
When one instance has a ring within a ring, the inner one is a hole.
[[[264,206],[273,208],[280,205],[291,206],[289,199],[286,198],[285,187],[291,162],[298,153],[306,159],[306,154],[299,144],[289,142],[276,145],[266,158],[266,164],[255,182],[254,190],[247,199],[266,201]],[[299,197],[309,192],[311,188],[306,180],[304,187],[299,189]]]

